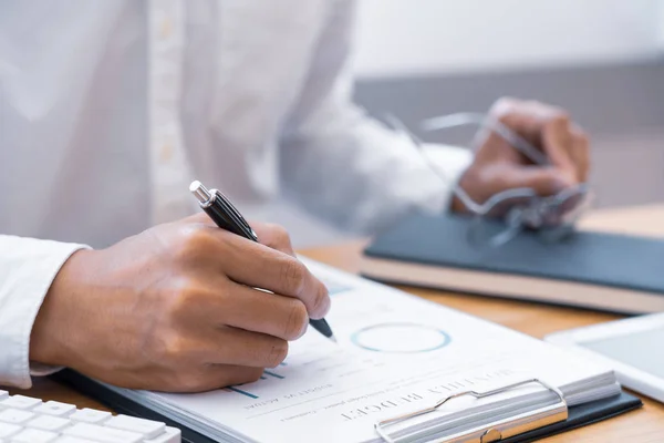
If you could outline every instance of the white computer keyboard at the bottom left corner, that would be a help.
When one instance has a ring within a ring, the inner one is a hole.
[[[164,423],[0,391],[0,443],[180,443]]]

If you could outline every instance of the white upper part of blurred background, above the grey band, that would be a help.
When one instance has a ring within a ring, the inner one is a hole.
[[[360,78],[660,56],[660,0],[360,0]]]

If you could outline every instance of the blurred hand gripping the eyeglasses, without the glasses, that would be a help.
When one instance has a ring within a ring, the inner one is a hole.
[[[541,150],[551,165],[533,165],[500,135],[485,131],[478,134],[481,138],[475,159],[459,181],[475,202],[481,204],[495,194],[520,187],[549,196],[587,181],[588,136],[563,110],[539,102],[501,99],[489,115]],[[467,210],[456,197],[453,209]]]

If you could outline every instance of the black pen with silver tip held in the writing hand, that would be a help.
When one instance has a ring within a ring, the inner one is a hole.
[[[198,181],[191,183],[189,190],[198,199],[200,208],[205,210],[212,222],[221,229],[226,229],[249,240],[258,241],[258,236],[253,229],[251,229],[251,226],[249,226],[247,220],[245,220],[245,217],[242,217],[230,200],[219,190],[208,190]],[[336,341],[332,333],[332,329],[325,319],[310,319],[309,324],[330,340]]]

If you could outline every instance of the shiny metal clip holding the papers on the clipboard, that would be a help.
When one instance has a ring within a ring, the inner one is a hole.
[[[450,394],[430,408],[425,408],[418,411],[409,412],[406,414],[402,414],[398,416],[394,416],[386,420],[381,420],[374,424],[374,429],[376,433],[383,439],[386,443],[402,443],[409,441],[408,437],[394,439],[390,436],[386,429],[395,425],[397,423],[403,423],[416,416],[425,415],[432,412],[435,412],[442,405],[446,404],[448,401],[453,399],[457,399],[464,395],[475,396],[476,399],[483,399],[486,396],[499,394],[502,392],[507,392],[509,390],[520,388],[526,384],[540,384],[548,389],[549,391],[556,393],[559,401],[554,404],[549,404],[543,408],[539,408],[535,411],[517,414],[507,419],[497,420],[494,423],[488,425],[477,426],[464,432],[456,433],[454,435],[448,435],[442,440],[430,440],[430,442],[436,443],[466,443],[466,442],[477,442],[477,443],[494,443],[499,442],[502,439],[508,439],[518,434],[522,434],[528,431],[532,431],[535,429],[543,427],[549,424],[553,424],[557,422],[561,422],[568,419],[568,405],[562,395],[562,392],[556,387],[552,387],[539,379],[529,379],[519,381],[511,384],[506,384],[500,388],[496,388],[486,392],[477,392],[477,391],[463,391]],[[423,431],[425,432],[425,431]],[[422,436],[412,435],[413,440],[417,442],[423,442]]]

